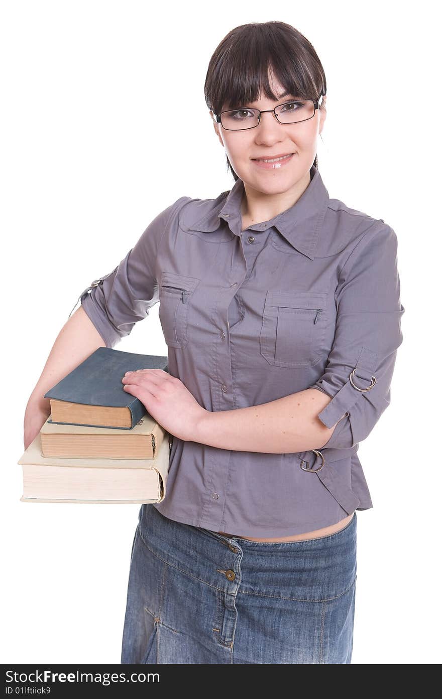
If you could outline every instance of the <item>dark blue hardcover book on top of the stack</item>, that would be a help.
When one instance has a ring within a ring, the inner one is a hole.
[[[126,371],[137,369],[168,371],[168,357],[98,347],[45,393],[51,406],[48,421],[130,430],[147,414],[145,405],[121,383]]]

